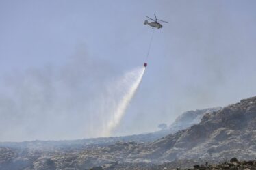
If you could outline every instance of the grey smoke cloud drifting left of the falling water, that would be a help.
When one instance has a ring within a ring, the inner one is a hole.
[[[5,75],[1,82],[5,85],[0,98],[1,139],[100,136],[109,114],[107,93],[113,90],[109,81],[115,77],[113,72],[107,62],[95,61],[79,51],[65,66]]]

